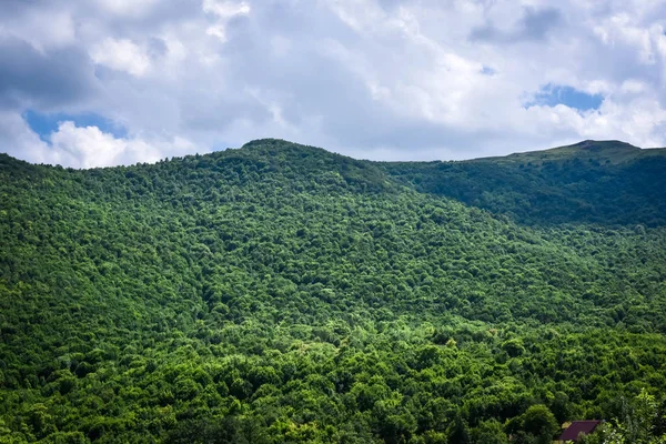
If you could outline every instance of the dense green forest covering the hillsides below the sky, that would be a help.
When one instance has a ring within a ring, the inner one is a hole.
[[[0,443],[666,443],[666,150],[0,154]]]

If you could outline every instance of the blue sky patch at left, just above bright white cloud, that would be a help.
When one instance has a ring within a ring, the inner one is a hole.
[[[97,127],[102,132],[111,133],[114,138],[124,138],[128,131],[122,125],[93,112],[68,114],[64,112],[41,113],[34,110],[23,112],[23,119],[40,139],[49,142],[52,132],[58,131],[58,124],[64,121],[74,122],[77,127]]]

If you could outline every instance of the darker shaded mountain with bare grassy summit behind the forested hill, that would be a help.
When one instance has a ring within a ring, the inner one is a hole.
[[[584,141],[505,158],[387,163],[386,171],[529,225],[666,223],[666,149]]]

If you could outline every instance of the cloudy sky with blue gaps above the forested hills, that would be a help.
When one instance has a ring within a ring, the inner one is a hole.
[[[0,152],[262,138],[357,159],[666,145],[666,0],[2,0]]]

